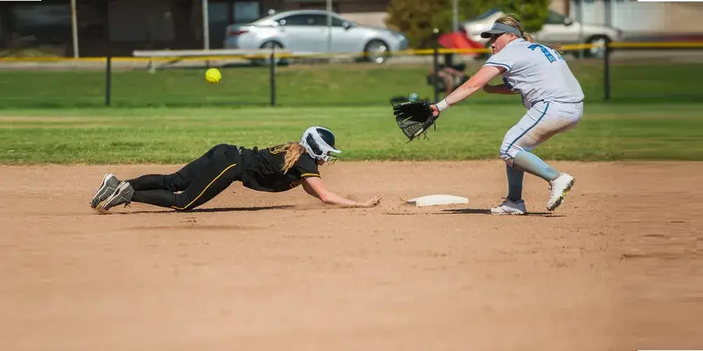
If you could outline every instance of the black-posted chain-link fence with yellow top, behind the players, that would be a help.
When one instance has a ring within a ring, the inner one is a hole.
[[[440,71],[446,68],[444,54],[448,52],[437,53]],[[563,55],[590,102],[703,101],[703,91],[697,86],[703,45],[686,50],[676,46],[615,48],[606,58],[577,59],[574,53],[574,49],[567,49]],[[323,55],[276,55],[274,60],[264,60],[264,65],[222,57],[165,58],[153,63],[114,58],[109,65],[105,58],[4,59],[0,60],[0,104],[6,108],[385,105],[413,94],[434,100],[456,88],[484,62],[460,53],[454,57],[454,67],[459,66],[460,73],[446,74],[448,80],[432,73],[432,52],[395,55],[382,64],[330,60]],[[219,84],[205,81],[208,67],[220,69],[223,78]],[[470,102],[511,98],[479,92]]]

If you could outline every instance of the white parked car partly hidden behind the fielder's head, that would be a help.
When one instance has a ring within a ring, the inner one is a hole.
[[[493,23],[504,15],[497,8],[479,15],[477,18],[462,22],[460,27],[469,39],[488,46],[488,40],[481,37],[481,32],[490,29]],[[623,33],[619,29],[606,25],[583,25],[573,18],[549,11],[548,18],[542,29],[530,33],[535,41],[543,44],[605,44],[610,41],[621,41]],[[577,51],[574,51],[577,53]],[[583,51],[586,57],[602,57],[605,48],[594,47]]]

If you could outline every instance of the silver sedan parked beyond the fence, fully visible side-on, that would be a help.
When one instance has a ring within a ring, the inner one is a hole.
[[[332,26],[328,30],[328,15]],[[328,47],[328,36],[330,43]],[[382,63],[394,51],[405,50],[408,39],[382,27],[365,27],[337,13],[296,10],[276,13],[244,25],[228,25],[225,48],[285,48],[292,54],[359,53]]]

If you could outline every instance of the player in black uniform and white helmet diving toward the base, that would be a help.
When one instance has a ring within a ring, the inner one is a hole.
[[[105,174],[91,207],[98,211],[130,202],[188,211],[216,197],[234,181],[262,192],[285,192],[299,185],[326,204],[373,207],[381,197],[363,202],[345,199],[325,187],[318,166],[333,164],[339,154],[335,135],[320,126],[311,126],[299,143],[286,143],[259,150],[220,144],[172,174],[148,174],[120,181]],[[102,204],[100,204],[102,202]],[[100,204],[100,206],[98,206]]]

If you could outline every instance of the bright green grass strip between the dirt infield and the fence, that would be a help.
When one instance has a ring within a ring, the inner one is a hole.
[[[703,105],[586,106],[582,123],[536,150],[545,159],[703,160]],[[519,101],[458,105],[430,140],[406,143],[387,107],[82,109],[0,112],[0,163],[184,163],[217,143],[245,147],[299,140],[307,126],[335,131],[344,160],[496,158]]]

